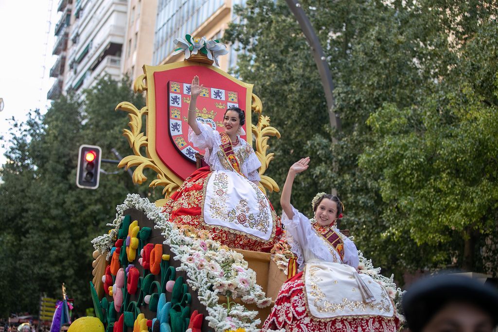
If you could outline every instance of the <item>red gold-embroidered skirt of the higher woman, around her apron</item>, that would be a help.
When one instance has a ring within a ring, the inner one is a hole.
[[[163,209],[163,212],[169,214],[169,221],[190,225],[197,230],[207,230],[213,240],[225,244],[230,248],[269,252],[273,245],[282,237],[280,218],[274,213],[271,203],[270,208],[272,214],[275,216],[275,221],[273,222],[274,233],[267,241],[241,231],[210,225],[204,222],[202,217],[203,195],[210,174],[209,167],[199,168],[171,195]]]

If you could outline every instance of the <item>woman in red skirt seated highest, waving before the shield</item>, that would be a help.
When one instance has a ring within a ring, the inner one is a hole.
[[[196,170],[164,206],[169,220],[208,230],[214,240],[231,248],[270,251],[282,236],[280,219],[257,187],[261,166],[251,145],[240,137],[244,111],[229,108],[224,132],[196,118],[197,98],[203,85],[195,76],[188,110],[189,140],[206,149],[209,167]]]

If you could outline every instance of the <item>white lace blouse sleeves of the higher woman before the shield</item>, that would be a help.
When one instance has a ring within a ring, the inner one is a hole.
[[[205,124],[197,120],[197,124],[201,133],[196,135],[192,128],[189,128],[188,139],[195,147],[206,149],[204,153],[204,161],[210,166],[213,171],[227,170],[222,165],[220,155],[223,153],[220,149],[221,136],[217,130],[213,130],[209,124]],[[243,138],[239,138],[240,144],[234,147],[234,152],[241,163],[241,171],[249,181],[259,181],[258,169],[261,167],[261,162],[257,159],[252,146]]]

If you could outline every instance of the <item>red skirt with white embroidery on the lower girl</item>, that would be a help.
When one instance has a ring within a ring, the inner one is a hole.
[[[301,332],[396,332],[398,320],[380,316],[318,320],[306,311],[303,272],[287,280],[280,288],[270,316],[261,331],[285,329]]]

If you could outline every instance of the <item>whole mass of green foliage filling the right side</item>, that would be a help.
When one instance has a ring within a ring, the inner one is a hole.
[[[282,134],[269,175],[283,184],[311,156],[296,207],[310,215],[317,191],[337,189],[342,227],[401,283],[427,268],[484,272],[477,249],[497,226],[495,1],[300,3],[332,71],[340,132],[284,1],[248,0],[225,34],[243,51],[235,72]]]

